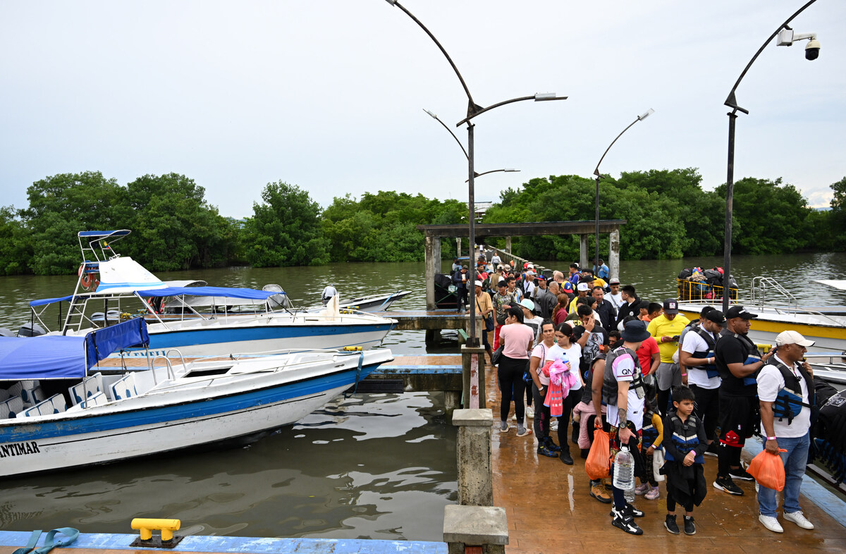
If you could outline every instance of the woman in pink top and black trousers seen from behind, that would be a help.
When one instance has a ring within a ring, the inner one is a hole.
[[[506,310],[505,325],[499,332],[499,341],[503,346],[503,356],[497,367],[499,391],[503,403],[499,407],[501,433],[508,432],[508,412],[511,410],[511,399],[514,397],[514,412],[517,415],[517,436],[530,435],[531,431],[523,425],[525,408],[523,395],[526,383],[523,374],[528,369],[529,351],[535,332],[530,326],[523,325],[523,310],[511,307]]]

